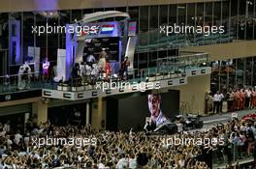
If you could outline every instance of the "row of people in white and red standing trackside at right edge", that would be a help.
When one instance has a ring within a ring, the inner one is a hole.
[[[227,111],[233,112],[248,108],[256,108],[255,88],[229,89],[226,94],[217,91],[207,94],[207,112],[222,113],[223,101],[227,101]]]

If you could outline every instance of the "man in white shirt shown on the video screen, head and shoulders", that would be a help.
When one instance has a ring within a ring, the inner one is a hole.
[[[168,122],[168,118],[164,115],[161,110],[161,96],[157,94],[147,95],[148,109],[150,112],[151,123],[155,124],[156,127]]]

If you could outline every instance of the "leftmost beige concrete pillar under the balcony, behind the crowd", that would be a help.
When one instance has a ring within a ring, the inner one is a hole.
[[[37,125],[48,122],[48,103],[43,101],[33,102],[32,117]]]

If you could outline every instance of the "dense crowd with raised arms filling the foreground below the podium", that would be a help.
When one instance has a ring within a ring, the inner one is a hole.
[[[76,145],[33,144],[33,138],[92,138],[97,144],[78,148]],[[170,138],[220,138],[215,145],[208,144],[165,144]],[[256,139],[254,122],[233,120],[227,125],[212,127],[206,131],[176,133],[174,135],[146,135],[144,132],[96,131],[89,125],[84,127],[55,127],[48,123],[29,125],[24,134],[14,131],[10,125],[0,125],[0,169],[9,168],[211,168],[212,152],[217,158],[232,161],[234,149],[241,155],[253,153]]]

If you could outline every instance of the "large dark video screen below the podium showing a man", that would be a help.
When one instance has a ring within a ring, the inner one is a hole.
[[[143,130],[146,121],[156,126],[172,120],[179,113],[179,91],[136,93],[107,99],[107,128]]]

